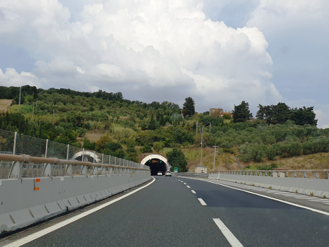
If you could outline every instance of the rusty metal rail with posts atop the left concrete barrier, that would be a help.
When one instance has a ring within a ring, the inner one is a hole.
[[[92,175],[100,174],[132,174],[132,173],[146,173],[151,171],[150,169],[144,168],[144,165],[132,162],[130,167],[126,165],[116,164],[99,164],[92,162],[80,162],[75,159],[58,159],[58,158],[46,158],[46,157],[33,157],[30,155],[8,155],[0,154],[0,161],[12,162],[11,170],[9,172],[9,179],[21,179],[23,164],[33,163],[44,163],[42,176],[51,177],[53,176],[53,169],[56,165],[66,165],[64,176],[73,176],[73,168],[75,166],[81,166],[80,175],[87,176],[88,167],[92,167]],[[99,168],[101,171],[99,172]]]

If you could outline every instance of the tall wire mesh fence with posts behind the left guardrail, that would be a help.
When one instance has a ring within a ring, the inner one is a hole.
[[[17,132],[10,132],[0,130],[0,154],[11,155],[30,155],[31,157],[56,157],[58,159],[74,161],[75,159],[80,162],[92,163],[94,166],[98,164],[115,165],[116,167],[132,167],[132,168],[144,168],[149,167],[139,164],[138,162],[132,162],[127,159],[121,159],[111,155],[104,155],[92,150],[85,150],[85,148],[74,147],[72,145],[66,145],[63,143],[56,143],[51,140],[45,140],[41,138],[35,138],[28,135],[23,135]],[[21,167],[20,176],[26,177],[41,177],[44,174],[44,164],[46,162],[34,162],[30,159],[29,163],[23,162]],[[3,162],[0,160],[0,179],[8,179],[11,173],[11,162]],[[92,175],[95,172],[90,169],[93,166],[89,166],[83,170],[87,175]],[[54,164],[52,167],[52,176],[66,176],[66,165]],[[81,175],[82,169],[79,165],[73,165],[72,174]],[[108,169],[108,168],[106,168]],[[12,175],[12,174],[11,174]]]

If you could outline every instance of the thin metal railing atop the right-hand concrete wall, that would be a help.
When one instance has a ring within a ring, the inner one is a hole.
[[[235,171],[211,171],[211,174],[236,174],[249,176],[278,176],[278,177],[302,177],[305,179],[329,179],[329,169],[313,170],[235,170]]]

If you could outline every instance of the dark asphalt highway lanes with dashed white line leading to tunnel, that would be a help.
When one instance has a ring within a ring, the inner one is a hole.
[[[329,246],[328,215],[206,181],[155,178],[24,246]]]

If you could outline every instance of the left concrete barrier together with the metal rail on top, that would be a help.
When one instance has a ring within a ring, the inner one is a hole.
[[[0,180],[0,233],[108,198],[151,179],[150,170],[144,166],[4,154],[0,154],[0,160],[13,162],[11,179]],[[20,176],[23,163],[31,160],[45,162],[43,177],[23,179]],[[66,164],[65,174],[69,176],[53,176],[51,171],[56,164]],[[94,175],[73,176],[72,166],[92,168]]]

